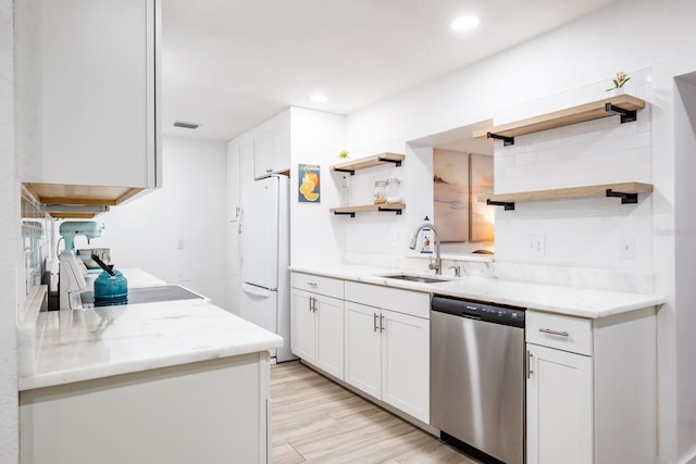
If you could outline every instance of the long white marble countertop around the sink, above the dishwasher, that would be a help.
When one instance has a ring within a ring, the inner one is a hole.
[[[442,277],[442,281],[423,284],[385,278],[385,275],[401,272],[399,269],[372,266],[347,265],[325,269],[291,266],[290,269],[346,280],[362,281],[365,284],[483,300],[587,318],[606,317],[648,306],[657,306],[667,301],[664,297],[657,294],[594,290],[580,287],[531,284],[486,277],[468,276],[456,278],[448,276]],[[433,273],[420,274],[406,272],[403,274],[436,277]]]

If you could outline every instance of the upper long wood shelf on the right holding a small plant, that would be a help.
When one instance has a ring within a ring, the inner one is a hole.
[[[599,120],[614,114],[621,116],[622,123],[629,123],[636,121],[637,111],[644,108],[644,100],[624,93],[581,104],[580,106],[504,124],[489,130],[476,130],[473,136],[474,138],[502,139],[505,145],[508,146],[514,143],[514,137],[517,136]]]

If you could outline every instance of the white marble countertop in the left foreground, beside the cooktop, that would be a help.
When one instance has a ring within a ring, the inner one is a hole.
[[[18,347],[20,391],[283,344],[204,299],[37,312],[33,335]]]

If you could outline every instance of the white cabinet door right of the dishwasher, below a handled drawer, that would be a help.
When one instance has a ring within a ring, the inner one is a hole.
[[[527,464],[593,463],[592,358],[527,343]]]

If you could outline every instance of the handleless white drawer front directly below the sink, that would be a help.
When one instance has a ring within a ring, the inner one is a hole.
[[[346,281],[346,300],[430,319],[431,296],[381,285]]]

